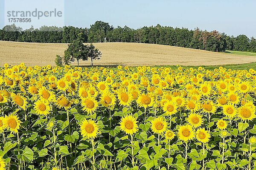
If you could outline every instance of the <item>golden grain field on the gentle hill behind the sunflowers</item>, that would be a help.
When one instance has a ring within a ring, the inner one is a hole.
[[[223,54],[191,48],[143,43],[94,43],[102,52],[95,65],[225,65],[256,62],[256,57]],[[63,56],[67,44],[0,41],[0,65],[55,65],[55,55]],[[76,62],[72,63],[76,65]],[[90,65],[81,61],[80,65]]]

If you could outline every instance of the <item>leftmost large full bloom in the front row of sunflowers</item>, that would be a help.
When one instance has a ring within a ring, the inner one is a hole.
[[[3,119],[3,126],[10,129],[11,133],[18,133],[21,121],[16,115],[10,114]]]

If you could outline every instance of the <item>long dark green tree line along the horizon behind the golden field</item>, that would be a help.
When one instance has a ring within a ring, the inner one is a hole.
[[[214,31],[203,31],[199,28],[173,28],[170,26],[144,26],[133,29],[128,26],[114,28],[109,23],[96,21],[90,28],[73,26],[42,26],[23,30],[13,25],[0,29],[0,40],[18,42],[51,42],[72,43],[74,40],[82,42],[138,42],[178,47],[203,49],[208,51],[254,51],[256,39],[246,35],[237,37]]]

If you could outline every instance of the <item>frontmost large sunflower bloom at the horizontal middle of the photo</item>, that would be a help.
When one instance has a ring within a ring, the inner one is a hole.
[[[138,131],[137,118],[132,115],[126,115],[122,117],[120,124],[120,129],[126,134],[133,135]]]

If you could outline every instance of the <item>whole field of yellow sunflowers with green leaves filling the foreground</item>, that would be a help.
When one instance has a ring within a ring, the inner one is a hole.
[[[256,170],[256,71],[0,68],[0,170]]]

